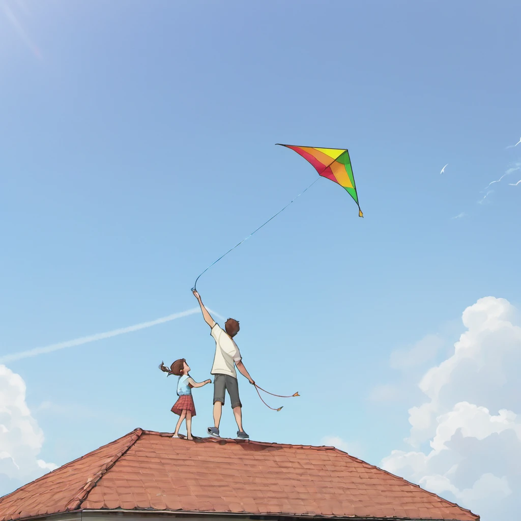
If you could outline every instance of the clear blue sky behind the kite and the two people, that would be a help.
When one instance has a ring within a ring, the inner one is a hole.
[[[521,170],[482,200],[521,163],[517,2],[0,6],[0,356],[194,307],[195,277],[315,178],[278,142],[348,147],[364,219],[320,180],[200,279],[254,379],[302,395],[275,413],[241,380],[252,439],[379,464],[420,391],[375,389],[449,356],[481,297],[521,304]],[[429,334],[424,366],[391,367]],[[60,465],[173,430],[157,365],[178,357],[209,377],[201,316],[6,365]]]

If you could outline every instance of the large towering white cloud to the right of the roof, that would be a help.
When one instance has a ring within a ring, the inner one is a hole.
[[[521,508],[521,327],[506,300],[485,297],[463,312],[453,354],[420,379],[425,401],[409,410],[408,451],[382,468],[481,515]],[[395,364],[394,364],[395,365]]]

